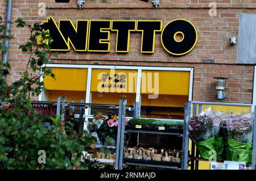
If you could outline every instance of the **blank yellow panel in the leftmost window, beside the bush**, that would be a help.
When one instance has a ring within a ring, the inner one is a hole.
[[[51,68],[55,79],[44,77],[44,86],[47,90],[86,91],[87,69]]]

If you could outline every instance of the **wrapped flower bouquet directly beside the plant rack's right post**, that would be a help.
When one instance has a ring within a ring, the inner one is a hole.
[[[207,115],[191,117],[188,121],[188,131],[195,142],[201,158],[208,159],[210,150],[214,148],[213,121]]]

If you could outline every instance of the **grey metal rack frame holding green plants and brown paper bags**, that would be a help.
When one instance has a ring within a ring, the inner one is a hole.
[[[121,120],[121,123],[118,123],[118,138],[117,138],[117,161],[118,165],[115,165],[116,170],[122,170],[124,166],[143,166],[143,167],[155,167],[155,168],[165,168],[165,169],[187,169],[187,163],[188,163],[188,146],[187,142],[189,140],[188,138],[188,132],[185,129],[187,126],[184,124],[183,133],[177,133],[177,132],[166,132],[166,131],[145,131],[145,130],[138,130],[138,129],[131,129],[127,128],[125,129],[125,115],[126,115],[126,100],[121,99],[119,103],[119,107],[122,108],[119,109],[119,116],[121,115],[121,119],[118,118],[118,120]],[[139,117],[139,103],[134,103],[134,108],[132,109],[133,117],[138,118]],[[189,106],[189,104],[186,104],[186,106]],[[185,109],[185,119],[189,119],[189,113],[187,113]],[[184,121],[185,123],[185,121]],[[143,161],[143,160],[137,160],[134,161],[134,159],[127,159],[123,158],[123,151],[124,151],[124,141],[125,141],[125,134],[126,133],[147,133],[147,134],[162,134],[162,135],[173,135],[178,137],[183,137],[182,142],[182,159],[181,163],[177,162],[162,162],[162,161]]]

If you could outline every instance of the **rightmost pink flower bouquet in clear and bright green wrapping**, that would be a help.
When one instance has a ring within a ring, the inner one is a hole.
[[[253,120],[247,116],[229,116],[228,151],[230,161],[251,162],[253,147]]]

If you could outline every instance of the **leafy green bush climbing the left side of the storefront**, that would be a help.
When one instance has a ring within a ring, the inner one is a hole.
[[[40,77],[43,74],[54,77],[50,69],[40,67],[41,63],[49,62],[51,52],[45,41],[36,43],[37,37],[52,39],[47,32],[40,32],[38,24],[31,26],[22,19],[15,22],[17,27],[26,27],[31,33],[29,41],[20,45],[30,58],[20,79],[10,85],[6,82],[10,65],[0,62],[0,169],[88,169],[88,165],[81,164],[80,156],[85,148],[96,143],[96,138],[77,134],[69,121],[60,121],[59,115],[42,116],[31,106],[30,96],[39,95],[43,89]],[[11,38],[4,36],[5,31],[1,23],[0,43]],[[53,125],[46,128],[43,123],[49,119]],[[46,151],[45,164],[38,162],[39,150]]]

